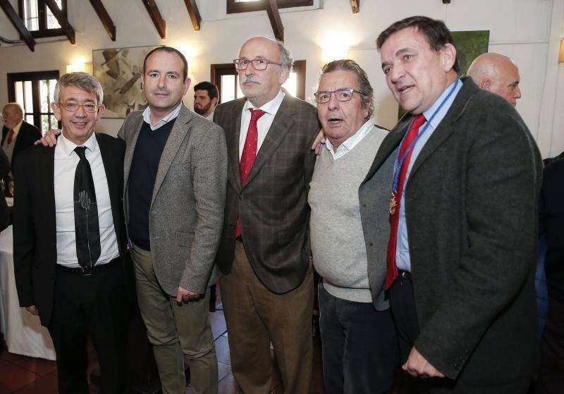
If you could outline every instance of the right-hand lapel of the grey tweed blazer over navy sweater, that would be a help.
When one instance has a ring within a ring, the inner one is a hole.
[[[176,117],[174,126],[171,130],[171,134],[168,135],[168,140],[164,145],[163,153],[161,154],[161,161],[159,161],[159,169],[157,170],[157,178],[154,180],[153,197],[151,199],[151,204],[154,202],[154,197],[157,197],[157,192],[161,188],[164,181],[164,177],[170,168],[180,145],[182,144],[184,138],[190,132],[190,127],[185,127],[186,124],[190,123],[192,120],[192,114],[190,110],[182,105],[180,108],[180,113]]]

